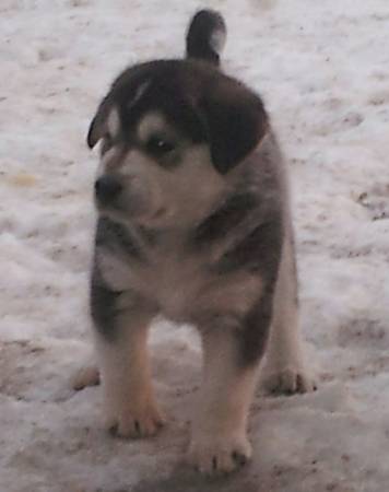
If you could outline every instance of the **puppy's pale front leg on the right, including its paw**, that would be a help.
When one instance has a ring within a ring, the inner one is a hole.
[[[259,359],[245,363],[243,332],[203,333],[203,383],[192,419],[189,462],[204,473],[229,472],[251,455],[247,417]]]

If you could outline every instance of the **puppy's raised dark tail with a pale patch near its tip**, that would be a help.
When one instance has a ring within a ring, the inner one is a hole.
[[[227,37],[223,16],[210,9],[200,10],[191,20],[187,34],[187,58],[220,65],[220,54]]]

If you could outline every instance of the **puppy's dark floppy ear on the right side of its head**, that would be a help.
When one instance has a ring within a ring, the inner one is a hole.
[[[261,99],[232,79],[224,79],[207,91],[201,109],[212,161],[221,174],[241,162],[268,130]]]

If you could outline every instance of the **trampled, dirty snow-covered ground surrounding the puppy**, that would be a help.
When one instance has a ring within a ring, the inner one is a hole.
[[[153,333],[170,415],[154,440],[107,436],[98,388],[69,386],[90,352],[90,118],[127,63],[180,55],[204,4],[290,159],[320,383],[258,393],[254,462],[217,482],[180,466],[200,364],[186,328]],[[388,0],[0,0],[0,492],[389,490],[388,22]]]

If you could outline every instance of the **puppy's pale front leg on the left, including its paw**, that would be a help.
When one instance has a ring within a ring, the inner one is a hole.
[[[110,339],[96,333],[98,366],[104,395],[106,427],[122,437],[156,433],[164,423],[151,380],[146,350],[150,318],[120,313]]]

